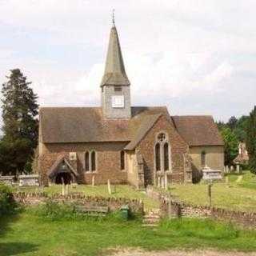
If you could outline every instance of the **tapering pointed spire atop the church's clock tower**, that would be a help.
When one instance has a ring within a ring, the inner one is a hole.
[[[110,31],[110,42],[107,50],[106,66],[101,86],[130,86],[122,60],[122,51],[119,44],[118,31],[114,25],[114,11],[112,14],[112,22],[113,26]]]

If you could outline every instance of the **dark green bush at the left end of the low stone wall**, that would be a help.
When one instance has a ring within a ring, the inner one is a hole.
[[[14,214],[17,204],[14,202],[10,187],[0,183],[0,217],[7,214]]]

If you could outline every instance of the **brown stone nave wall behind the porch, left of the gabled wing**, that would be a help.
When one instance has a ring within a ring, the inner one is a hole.
[[[94,143],[52,143],[42,144],[42,155],[39,158],[39,168],[44,183],[47,183],[46,172],[54,164],[59,155],[69,157],[70,152],[76,152],[78,158],[78,182],[91,184],[94,176],[95,184],[126,183],[127,172],[120,169],[120,152],[126,142],[94,142]],[[85,152],[96,152],[96,171],[84,170]]]

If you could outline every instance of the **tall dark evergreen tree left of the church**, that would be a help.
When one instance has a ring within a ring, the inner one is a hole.
[[[24,170],[38,144],[38,96],[21,70],[10,70],[2,85],[3,138],[0,143],[0,162],[5,159],[6,171]],[[8,154],[8,158],[1,154]]]

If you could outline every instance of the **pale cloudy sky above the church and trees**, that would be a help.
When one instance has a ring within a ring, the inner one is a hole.
[[[0,0],[0,84],[19,68],[40,106],[99,106],[112,9],[133,106],[253,109],[255,0]]]

